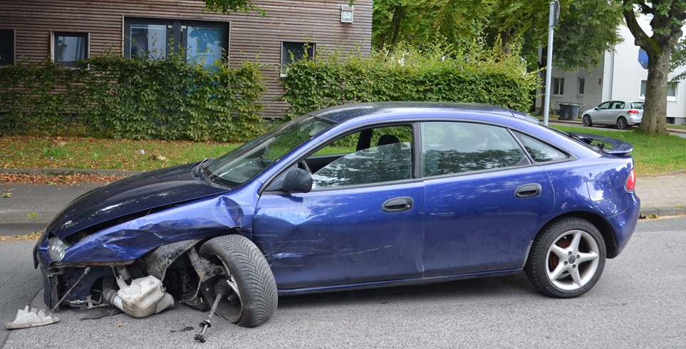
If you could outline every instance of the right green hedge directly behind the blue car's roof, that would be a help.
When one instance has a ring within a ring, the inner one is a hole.
[[[293,63],[283,80],[289,117],[343,103],[390,100],[487,103],[520,111],[531,106],[536,72],[527,73],[516,53],[395,52]]]

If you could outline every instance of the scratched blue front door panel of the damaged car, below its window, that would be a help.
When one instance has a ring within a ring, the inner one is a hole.
[[[410,209],[384,212],[394,198]],[[423,270],[424,184],[269,194],[253,237],[279,290],[418,278]]]

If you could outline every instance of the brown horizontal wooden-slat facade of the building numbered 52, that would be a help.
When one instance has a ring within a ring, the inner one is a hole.
[[[287,105],[275,99],[284,91],[279,83],[281,43],[316,43],[316,57],[333,50],[370,53],[372,0],[358,0],[352,24],[341,23],[347,0],[256,0],[267,13],[230,15],[204,12],[200,0],[48,1],[0,0],[0,28],[14,29],[16,61],[38,61],[51,55],[51,32],[89,33],[90,56],[111,50],[121,53],[124,18],[217,21],[229,23],[231,66],[259,61],[268,87],[263,116],[280,118]]]

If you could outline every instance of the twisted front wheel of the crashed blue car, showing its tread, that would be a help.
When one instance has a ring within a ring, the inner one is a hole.
[[[199,254],[211,266],[224,269],[202,286],[209,306],[214,303],[219,287],[228,291],[217,306],[219,316],[242,327],[255,327],[274,315],[279,299],[274,274],[252,241],[237,234],[218,236],[202,244]],[[218,286],[221,283],[228,287]]]

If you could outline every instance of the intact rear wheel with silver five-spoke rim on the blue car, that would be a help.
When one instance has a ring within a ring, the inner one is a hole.
[[[605,241],[596,226],[567,217],[547,225],[536,236],[524,271],[546,295],[573,298],[593,288],[605,261]]]

